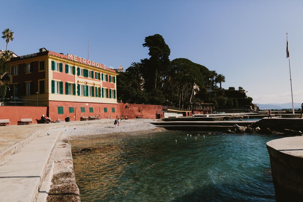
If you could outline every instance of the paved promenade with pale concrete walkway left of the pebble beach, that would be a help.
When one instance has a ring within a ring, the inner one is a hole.
[[[1,201],[35,201],[37,199],[52,151],[65,127],[109,122],[111,123],[112,120],[0,127]]]

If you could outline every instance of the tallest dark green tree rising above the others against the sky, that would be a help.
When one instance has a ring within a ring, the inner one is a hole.
[[[155,34],[145,37],[143,47],[148,47],[150,58],[141,60],[142,74],[145,80],[144,88],[148,91],[151,89],[162,88],[165,72],[169,66],[170,49],[165,43],[164,38]]]

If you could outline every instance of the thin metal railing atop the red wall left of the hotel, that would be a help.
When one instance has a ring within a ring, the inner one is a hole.
[[[46,100],[0,98],[0,106],[47,106]]]

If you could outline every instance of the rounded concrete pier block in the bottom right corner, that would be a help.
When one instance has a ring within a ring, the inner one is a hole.
[[[285,137],[266,143],[277,201],[302,201],[303,137]]]

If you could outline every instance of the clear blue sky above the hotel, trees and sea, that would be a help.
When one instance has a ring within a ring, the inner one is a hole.
[[[255,103],[303,102],[303,1],[2,1],[8,49],[70,53],[117,68],[147,58],[144,38],[161,34],[170,59],[188,58],[242,86]],[[5,49],[0,40],[0,49]]]

